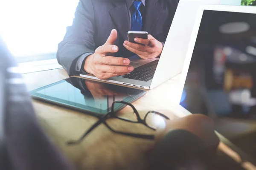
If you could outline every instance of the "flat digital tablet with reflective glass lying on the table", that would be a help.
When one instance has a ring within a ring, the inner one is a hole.
[[[132,103],[145,95],[145,91],[119,85],[96,82],[78,77],[55,82],[51,85],[30,91],[34,99],[38,99],[84,113],[103,116],[111,111],[114,101]],[[115,105],[119,111],[124,105]]]

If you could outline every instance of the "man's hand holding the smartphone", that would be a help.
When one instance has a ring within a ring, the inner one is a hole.
[[[152,35],[148,35],[148,40],[135,38],[134,41],[140,44],[125,41],[124,46],[129,51],[140,56],[140,58],[150,59],[159,57],[163,51],[162,42],[157,41]]]

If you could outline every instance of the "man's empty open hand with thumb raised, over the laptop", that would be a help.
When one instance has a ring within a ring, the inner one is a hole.
[[[134,68],[129,66],[128,58],[113,57],[109,53],[116,53],[118,47],[113,45],[117,39],[117,31],[113,29],[106,43],[95,50],[95,53],[85,60],[84,71],[99,79],[108,79],[128,74]]]

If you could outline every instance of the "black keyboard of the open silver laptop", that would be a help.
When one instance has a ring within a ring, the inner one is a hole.
[[[134,68],[134,71],[132,71],[129,74],[126,74],[123,76],[123,78],[127,79],[135,79],[147,82],[148,80],[153,79],[154,72],[157,69],[158,59],[148,62],[147,64],[141,65],[140,67]]]

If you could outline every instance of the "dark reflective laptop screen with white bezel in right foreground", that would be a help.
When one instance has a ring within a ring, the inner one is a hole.
[[[180,105],[256,160],[256,14],[204,10]]]

